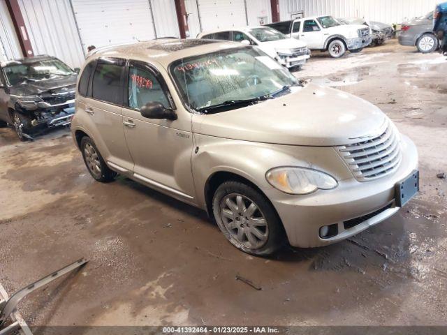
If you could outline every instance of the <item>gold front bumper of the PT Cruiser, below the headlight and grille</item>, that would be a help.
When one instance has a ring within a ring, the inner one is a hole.
[[[268,198],[281,218],[292,246],[307,248],[325,246],[358,234],[395,214],[400,207],[395,202],[395,184],[409,176],[418,166],[418,152],[411,140],[402,135],[402,162],[388,176],[360,182],[354,178],[339,181],[334,190],[317,191],[311,195],[284,196],[270,190]],[[383,209],[382,211],[379,211]],[[344,221],[360,218],[377,211],[372,217],[345,229]],[[321,227],[337,224],[338,234],[322,239]]]

